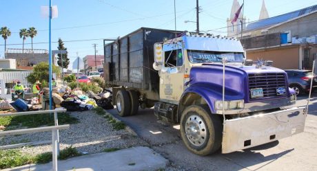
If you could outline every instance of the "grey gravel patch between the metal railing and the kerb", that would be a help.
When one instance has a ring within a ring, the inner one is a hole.
[[[106,148],[129,148],[132,146],[148,146],[137,137],[129,127],[124,130],[114,130],[112,125],[101,115],[94,111],[72,112],[72,117],[79,119],[78,124],[71,124],[67,130],[60,130],[60,149],[75,147],[79,152],[93,154],[103,152]],[[0,146],[18,144],[30,141],[51,141],[52,133],[30,133],[19,136],[0,137]],[[25,146],[20,148],[22,152],[37,155],[43,152],[51,152],[51,144],[39,146]]]

